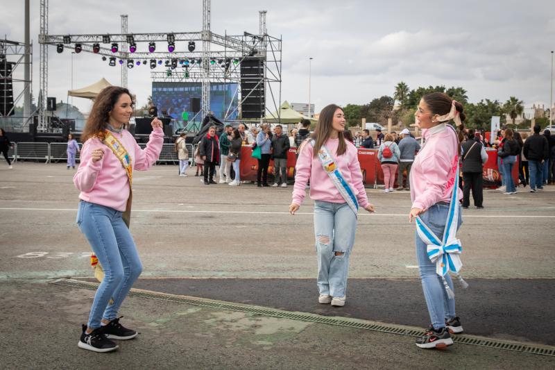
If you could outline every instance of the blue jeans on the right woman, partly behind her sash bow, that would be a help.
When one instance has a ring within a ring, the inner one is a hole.
[[[459,225],[463,222],[461,217],[461,206],[459,205]],[[447,221],[447,213],[449,205],[436,203],[422,215],[420,219],[436,234],[439,239],[443,238],[443,230]],[[443,280],[436,274],[436,264],[429,260],[427,254],[427,244],[416,233],[416,259],[418,260],[418,268],[420,269],[420,280],[422,280],[422,290],[426,298],[429,318],[432,320],[434,328],[444,328],[445,321],[455,317],[455,300],[448,298]],[[449,287],[453,289],[453,282],[449,274],[445,274],[445,280]],[[454,292],[454,290],[453,290]]]

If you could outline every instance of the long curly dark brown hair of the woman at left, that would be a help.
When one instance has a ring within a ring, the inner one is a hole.
[[[133,104],[133,96],[125,87],[108,86],[96,96],[91,114],[83,128],[83,133],[81,133],[81,142],[86,142],[94,135],[104,137],[104,131],[110,119],[110,111],[116,106],[119,96],[122,94],[128,94]]]

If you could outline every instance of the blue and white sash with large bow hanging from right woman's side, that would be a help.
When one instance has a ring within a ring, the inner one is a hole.
[[[456,228],[459,225],[459,200],[456,199],[457,189],[459,189],[458,156],[455,160],[456,170],[452,171],[452,176],[454,176],[454,178],[450,176],[450,180],[447,182],[447,184],[452,184],[453,189],[449,212],[447,213],[447,222],[443,230],[443,240],[439,239],[419,216],[416,216],[416,231],[418,232],[418,236],[428,245],[428,258],[430,261],[436,263],[436,274],[443,278],[443,285],[445,286],[447,295],[451,298],[454,297],[454,293],[445,280],[445,274],[449,271],[455,274],[464,288],[468,287],[468,284],[459,275],[459,271],[461,267],[463,267],[463,263],[461,262],[463,247],[461,246],[461,241],[456,238]]]

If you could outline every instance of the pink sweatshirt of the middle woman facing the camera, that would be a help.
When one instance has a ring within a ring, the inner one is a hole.
[[[347,151],[343,155],[336,155],[339,139],[330,139],[325,143],[327,151],[330,152],[339,171],[357,196],[359,207],[368,205],[368,197],[362,183],[357,148],[352,142],[347,143]],[[295,186],[293,187],[293,203],[302,204],[305,199],[305,186],[310,178],[310,199],[315,201],[327,201],[331,203],[345,203],[345,199],[339,193],[330,176],[322,167],[318,156],[314,157],[313,147],[307,144],[299,154],[296,166]]]

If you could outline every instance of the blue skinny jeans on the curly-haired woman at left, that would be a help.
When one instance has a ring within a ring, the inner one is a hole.
[[[104,270],[104,279],[94,295],[87,322],[89,328],[100,328],[101,319],[117,317],[119,306],[141,274],[142,264],[121,212],[80,201],[77,225]]]

